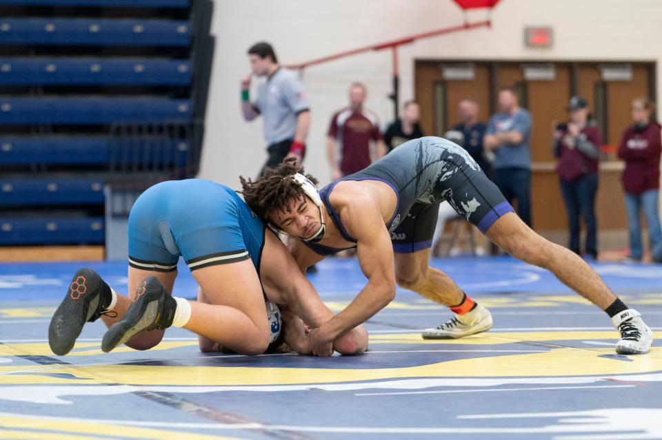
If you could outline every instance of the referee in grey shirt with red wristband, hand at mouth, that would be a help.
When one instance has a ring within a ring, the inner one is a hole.
[[[278,64],[269,43],[256,43],[248,50],[250,67],[255,76],[267,80],[257,89],[257,99],[250,102],[251,74],[241,80],[241,112],[245,121],[260,114],[264,118],[264,138],[269,158],[266,167],[276,167],[284,158],[294,156],[301,163],[305,154],[305,138],[310,126],[310,109],[303,84],[297,74]]]

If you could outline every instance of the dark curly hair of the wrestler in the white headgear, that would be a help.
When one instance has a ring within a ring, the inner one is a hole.
[[[268,221],[270,211],[289,212],[288,201],[303,196],[303,189],[290,176],[303,174],[317,185],[317,179],[310,174],[304,174],[303,167],[297,167],[296,158],[287,158],[275,168],[267,168],[263,176],[252,180],[239,176],[241,180],[240,194],[252,211],[262,220]]]

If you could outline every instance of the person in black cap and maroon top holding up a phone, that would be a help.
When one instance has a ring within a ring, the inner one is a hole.
[[[590,121],[588,103],[573,96],[568,105],[570,121],[554,124],[552,146],[554,157],[559,159],[561,194],[568,212],[570,243],[568,247],[581,255],[579,244],[579,215],[586,227],[585,253],[595,260],[598,255],[595,196],[598,191],[598,156],[602,135],[597,125]]]

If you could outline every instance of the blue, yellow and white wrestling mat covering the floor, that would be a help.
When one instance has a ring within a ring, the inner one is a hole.
[[[56,357],[48,323],[74,271],[126,293],[126,262],[0,264],[0,438],[662,439],[662,342],[616,355],[602,311],[511,258],[432,264],[492,311],[492,331],[425,341],[450,312],[399,290],[367,324],[368,353],[330,358],[203,354],[179,328],[152,350],[106,354],[101,322]],[[662,330],[662,266],[594,268]],[[194,297],[179,273],[175,293]],[[310,279],[334,311],[365,282],[353,259]]]

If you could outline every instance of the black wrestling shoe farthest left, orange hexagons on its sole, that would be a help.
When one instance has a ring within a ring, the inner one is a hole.
[[[71,280],[64,300],[50,319],[48,345],[58,356],[74,347],[86,322],[94,322],[108,313],[112,293],[106,282],[92,269],[81,269]]]

